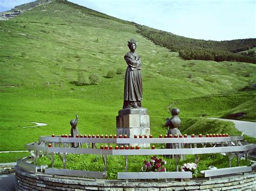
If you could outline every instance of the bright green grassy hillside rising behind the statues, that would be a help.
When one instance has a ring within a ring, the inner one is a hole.
[[[163,124],[170,106],[180,108],[186,127],[202,114],[221,117],[234,108],[237,112],[239,105],[255,97],[255,89],[239,90],[255,84],[256,65],[183,60],[141,36],[131,23],[99,14],[55,2],[0,22],[0,151],[24,150],[24,144],[43,135],[69,134],[69,121],[76,114],[81,133],[115,134],[124,72],[113,78],[106,74],[118,68],[125,71],[123,56],[130,38],[138,41],[143,107],[149,111],[154,136],[166,132]],[[90,84],[92,74],[99,76],[98,85]],[[84,86],[76,86],[79,76],[84,77]],[[248,113],[244,119],[255,121],[255,105],[247,105],[242,108]],[[32,126],[30,122],[49,125],[23,128]],[[196,128],[186,132],[200,133]]]

